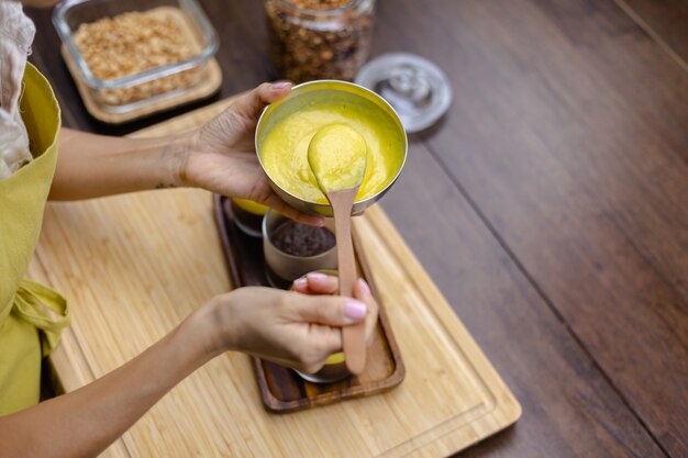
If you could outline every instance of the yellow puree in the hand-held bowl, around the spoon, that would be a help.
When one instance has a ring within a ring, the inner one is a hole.
[[[353,129],[367,146],[367,165],[356,201],[385,189],[403,161],[403,137],[397,134],[398,127],[387,113],[355,103],[318,103],[277,122],[260,147],[260,160],[270,178],[302,200],[328,203],[308,163],[308,147],[315,133],[331,124]]]

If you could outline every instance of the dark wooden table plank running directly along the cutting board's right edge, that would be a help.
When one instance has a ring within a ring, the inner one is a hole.
[[[664,457],[595,356],[431,157],[412,142],[382,205],[523,406],[513,429],[459,456]]]

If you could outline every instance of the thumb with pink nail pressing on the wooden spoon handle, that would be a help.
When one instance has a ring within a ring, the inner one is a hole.
[[[348,326],[358,323],[368,314],[365,302],[341,295],[291,295],[293,317],[308,323],[328,326]]]

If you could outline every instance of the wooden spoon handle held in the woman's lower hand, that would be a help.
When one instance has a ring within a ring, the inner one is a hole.
[[[358,187],[331,192],[328,198],[334,213],[336,254],[340,272],[340,294],[352,297],[356,281],[356,260],[352,243],[352,206]],[[346,368],[355,375],[366,366],[365,323],[360,322],[342,328]]]

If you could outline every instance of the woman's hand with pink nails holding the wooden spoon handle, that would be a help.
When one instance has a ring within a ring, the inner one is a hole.
[[[309,284],[309,293],[335,290],[321,279]],[[211,351],[237,350],[317,372],[330,355],[342,349],[342,326],[377,319],[377,306],[366,291],[367,286],[359,282],[355,290],[359,300],[259,287],[217,297],[209,304],[217,324]]]

